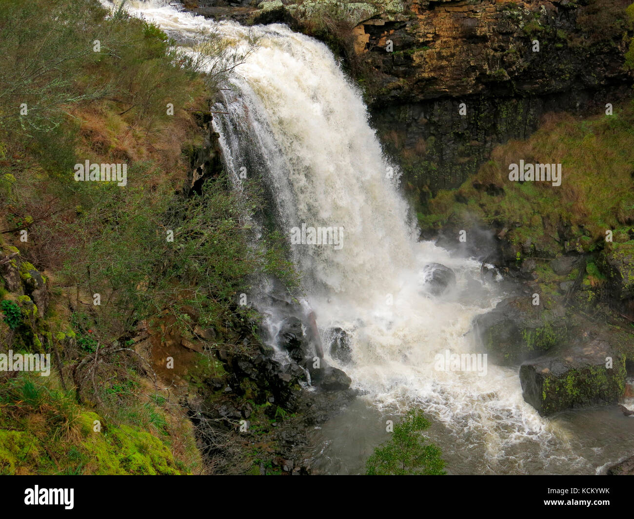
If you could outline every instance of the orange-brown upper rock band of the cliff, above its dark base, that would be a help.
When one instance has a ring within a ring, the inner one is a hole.
[[[380,74],[377,105],[595,89],[625,79],[629,3],[413,1],[359,23],[356,49]]]

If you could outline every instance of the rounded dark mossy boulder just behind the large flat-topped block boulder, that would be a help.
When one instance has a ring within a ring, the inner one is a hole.
[[[566,340],[566,310],[533,305],[524,295],[505,299],[474,321],[489,359],[502,366],[538,357]]]

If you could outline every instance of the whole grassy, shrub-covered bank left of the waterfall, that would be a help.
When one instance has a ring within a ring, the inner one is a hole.
[[[190,189],[197,157],[213,158],[210,96],[236,63],[216,35],[202,48],[220,64],[210,74],[152,23],[96,1],[0,6],[0,353],[53,362],[49,377],[0,373],[0,473],[209,468],[179,405],[188,388],[136,345],[165,342],[169,316],[169,333],[213,328],[243,348],[257,316],[239,294],[259,272],[295,274],[275,236],[251,245],[257,189],[235,195],[219,170]],[[86,161],[127,177],[76,181]]]

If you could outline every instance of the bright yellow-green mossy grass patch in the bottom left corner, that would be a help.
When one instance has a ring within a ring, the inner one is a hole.
[[[164,412],[153,402],[138,409],[142,423],[117,423],[79,406],[52,377],[21,373],[0,385],[0,474],[190,472],[172,456]]]

